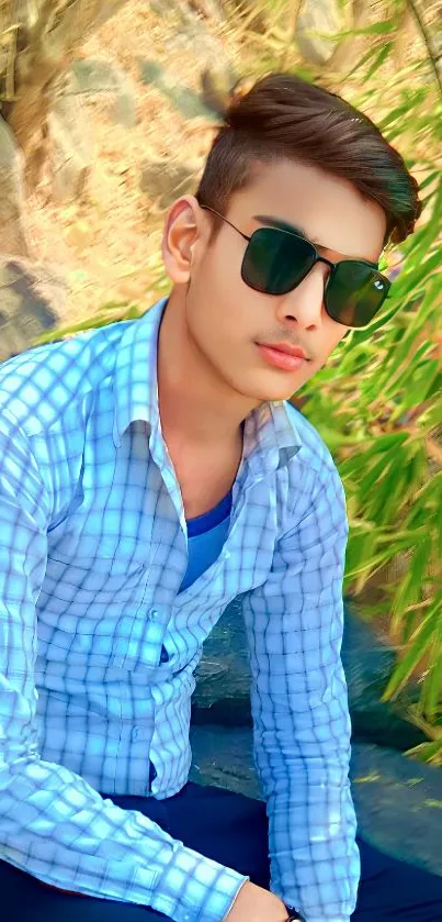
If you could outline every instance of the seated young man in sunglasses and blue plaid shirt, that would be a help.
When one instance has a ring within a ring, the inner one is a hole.
[[[419,212],[370,120],[273,75],[170,210],[170,298],[1,368],[5,922],[349,922],[358,889],[356,922],[442,918],[440,878],[356,842],[344,498],[285,402],[382,307]],[[265,806],[186,784],[239,595]]]

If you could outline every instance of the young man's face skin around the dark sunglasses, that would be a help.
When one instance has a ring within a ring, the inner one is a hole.
[[[325,365],[348,330],[325,310],[329,267],[317,263],[287,295],[256,291],[241,278],[247,241],[223,223],[211,242],[211,212],[201,210],[195,200],[188,208],[195,229],[189,237],[189,280],[178,288],[196,354],[238,395],[257,402],[290,398]],[[386,220],[382,208],[364,201],[348,180],[316,167],[287,160],[260,167],[253,181],[233,197],[224,216],[250,236],[263,223],[256,215],[302,229],[308,240],[319,241],[318,253],[331,262],[376,263],[383,248]],[[170,256],[167,265],[170,269]],[[302,347],[308,360],[297,368],[282,368],[274,364],[273,353],[261,348],[282,344]]]

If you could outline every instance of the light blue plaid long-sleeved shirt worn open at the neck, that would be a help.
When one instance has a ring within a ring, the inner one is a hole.
[[[0,856],[175,922],[226,915],[247,878],[99,792],[163,799],[185,785],[193,673],[240,595],[272,890],[307,922],[348,922],[360,860],[342,486],[293,408],[251,413],[227,541],[179,591],[186,529],[157,391],[165,304],[0,368]]]

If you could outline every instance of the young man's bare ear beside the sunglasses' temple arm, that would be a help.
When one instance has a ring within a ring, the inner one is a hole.
[[[193,196],[183,196],[172,204],[166,220],[161,252],[174,285],[185,285],[190,279],[193,249],[201,232],[199,210]]]

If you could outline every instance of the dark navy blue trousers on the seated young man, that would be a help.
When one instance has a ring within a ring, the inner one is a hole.
[[[106,795],[110,797],[110,795]],[[268,822],[264,804],[222,788],[189,782],[168,800],[116,797],[139,810],[185,845],[249,875],[269,887]],[[381,854],[358,840],[362,876],[354,922],[441,922],[442,877]],[[0,862],[1,918],[4,922],[159,922],[166,917],[145,907],[77,897],[43,886]]]

